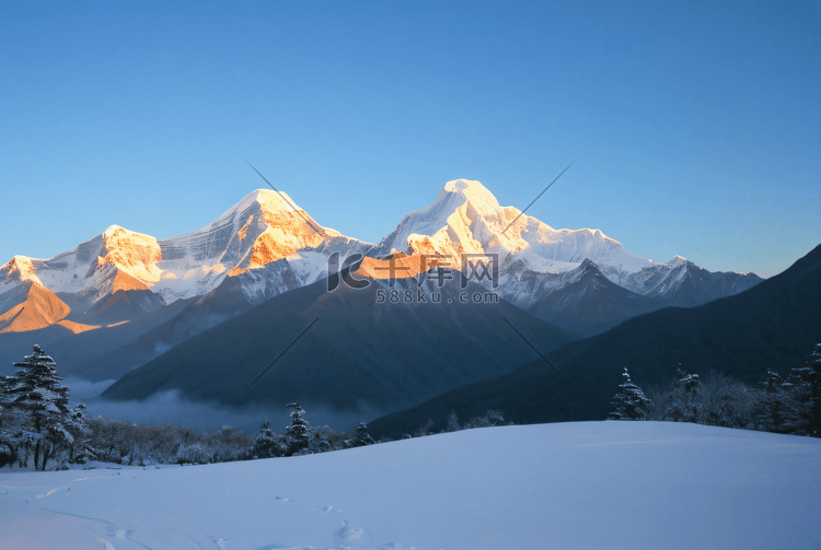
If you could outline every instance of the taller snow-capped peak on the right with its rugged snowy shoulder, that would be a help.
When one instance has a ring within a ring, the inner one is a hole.
[[[463,258],[470,258],[464,255],[495,255],[497,290],[505,300],[566,328],[588,327],[587,333],[668,305],[701,305],[762,280],[752,273],[712,273],[681,256],[663,264],[640,258],[599,230],[555,230],[513,207],[499,206],[481,183],[469,179],[449,182],[432,203],[405,215],[369,254],[395,253],[444,257],[459,269],[465,267]],[[562,277],[587,261],[613,284],[582,292],[593,279],[579,283],[575,277]],[[569,284],[576,290],[566,292],[562,302],[547,300]],[[568,308],[568,301],[593,295],[611,304]],[[582,317],[560,321],[567,312],[581,311]]]

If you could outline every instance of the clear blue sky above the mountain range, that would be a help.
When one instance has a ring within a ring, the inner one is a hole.
[[[0,264],[265,184],[378,242],[446,182],[770,277],[821,243],[819,2],[0,0]]]

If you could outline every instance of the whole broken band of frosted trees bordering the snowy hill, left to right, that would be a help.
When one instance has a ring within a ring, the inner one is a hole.
[[[233,428],[201,433],[188,426],[136,425],[103,417],[89,418],[85,406],[69,407],[69,388],[57,375],[55,361],[39,346],[19,371],[0,377],[0,468],[16,463],[45,470],[84,464],[89,459],[127,464],[208,464],[288,457],[375,443],[360,423],[352,434],[327,425],[312,426],[299,403],[281,432],[265,422],[250,436]],[[680,371],[667,388],[645,393],[627,370],[611,403],[610,419],[695,422],[726,428],[821,436],[821,344],[805,365],[786,378],[767,371],[756,387],[717,372],[706,378]],[[451,413],[443,432],[504,425],[499,411],[488,410],[460,423]],[[413,435],[430,435],[432,420]]]

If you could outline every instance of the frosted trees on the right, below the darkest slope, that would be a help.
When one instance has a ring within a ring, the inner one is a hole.
[[[645,394],[627,368],[622,376],[611,402],[612,420],[695,422],[821,436],[821,343],[786,378],[771,370],[755,387],[715,371],[702,378],[680,370],[669,387],[652,387]]]

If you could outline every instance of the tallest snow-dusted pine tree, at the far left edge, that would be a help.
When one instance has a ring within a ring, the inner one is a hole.
[[[25,425],[20,442],[26,447],[34,445],[35,469],[41,466],[43,455],[42,469],[45,470],[49,458],[62,449],[71,449],[76,436],[83,435],[76,424],[77,411],[68,407],[69,388],[62,385],[63,378],[57,376],[57,364],[39,346],[35,344],[34,353],[14,366],[20,371],[7,379],[7,405],[23,412]],[[26,460],[27,454],[26,449]]]

